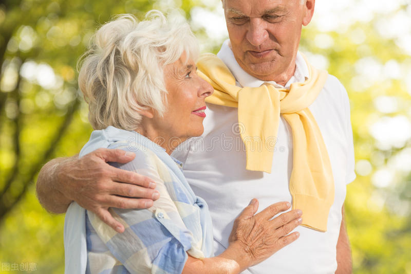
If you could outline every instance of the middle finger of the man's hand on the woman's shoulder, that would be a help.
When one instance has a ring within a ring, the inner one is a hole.
[[[121,182],[114,182],[109,189],[110,194],[116,194],[129,198],[146,198],[157,200],[160,193],[156,189],[144,188],[132,184],[122,184]]]

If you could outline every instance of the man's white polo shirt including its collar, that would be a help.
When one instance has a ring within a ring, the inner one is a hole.
[[[238,86],[258,87],[264,83],[238,65],[228,41],[217,56],[231,70]],[[308,68],[298,53],[295,74],[286,87],[293,82],[304,82],[305,77],[308,77]],[[282,87],[275,82],[270,83]],[[172,156],[183,162],[184,175],[194,192],[206,199],[209,205],[217,255],[228,247],[233,222],[252,198],[259,200],[258,211],[276,202],[291,203],[292,133],[281,116],[272,173],[248,171],[246,150],[238,132],[237,108],[213,104],[207,104],[207,107],[203,135],[182,143]],[[323,90],[309,109],[320,127],[334,176],[335,198],[328,216],[327,232],[299,226],[294,231],[301,233],[300,238],[243,273],[314,274],[334,273],[337,269],[341,208],[346,184],[356,177],[349,101],[337,78],[328,76]]]

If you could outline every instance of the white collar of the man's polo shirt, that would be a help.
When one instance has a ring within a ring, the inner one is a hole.
[[[237,63],[237,60],[235,60],[234,53],[231,50],[229,43],[230,40],[228,39],[222,44],[220,51],[217,53],[217,57],[227,65],[231,73],[234,75],[237,81],[237,85],[239,86],[259,87],[264,83],[270,83],[274,85],[276,88],[289,88],[292,83],[303,83],[306,79],[309,78],[307,64],[300,52],[297,52],[297,57],[295,59],[296,67],[294,75],[291,77],[291,79],[287,82],[285,86],[277,84],[274,81],[263,81],[258,78],[255,78],[254,76],[249,75]]]

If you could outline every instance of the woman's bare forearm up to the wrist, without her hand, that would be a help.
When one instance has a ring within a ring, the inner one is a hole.
[[[220,255],[202,260],[189,259],[182,274],[237,274],[251,266],[250,255],[239,244],[233,243]]]

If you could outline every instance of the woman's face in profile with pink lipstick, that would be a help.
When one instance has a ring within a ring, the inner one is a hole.
[[[196,70],[194,61],[186,61],[185,54],[164,68],[168,104],[164,116],[154,119],[157,120],[157,129],[161,128],[164,135],[172,138],[169,147],[175,148],[189,137],[200,136],[204,130],[204,99],[212,95],[214,89],[197,75]]]

